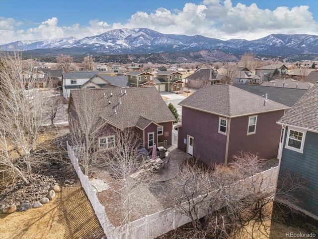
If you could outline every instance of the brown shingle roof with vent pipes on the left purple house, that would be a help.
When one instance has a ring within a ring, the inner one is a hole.
[[[106,97],[103,97],[104,93]],[[156,87],[81,89],[71,92],[71,98],[76,102],[85,97],[93,100],[96,111],[100,112],[103,119],[121,128],[142,128],[150,121],[159,123],[175,120]],[[119,99],[122,104],[119,104]],[[109,101],[111,104],[108,104]],[[117,114],[114,114],[115,109]]]

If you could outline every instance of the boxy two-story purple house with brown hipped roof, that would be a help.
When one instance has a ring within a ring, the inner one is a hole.
[[[289,107],[225,84],[200,88],[179,105],[178,148],[205,164],[226,165],[240,151],[276,158],[276,122]]]

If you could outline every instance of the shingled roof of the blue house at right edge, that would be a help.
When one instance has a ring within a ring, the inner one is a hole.
[[[318,83],[278,120],[280,124],[289,124],[318,132]]]

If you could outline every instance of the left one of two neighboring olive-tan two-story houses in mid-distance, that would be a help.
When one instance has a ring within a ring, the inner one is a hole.
[[[155,75],[147,71],[131,71],[126,74],[132,87],[155,86]]]

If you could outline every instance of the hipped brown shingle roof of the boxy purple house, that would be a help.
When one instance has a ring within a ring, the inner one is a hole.
[[[179,105],[225,117],[239,117],[289,108],[271,100],[268,100],[264,106],[263,97],[224,84],[200,88]]]

